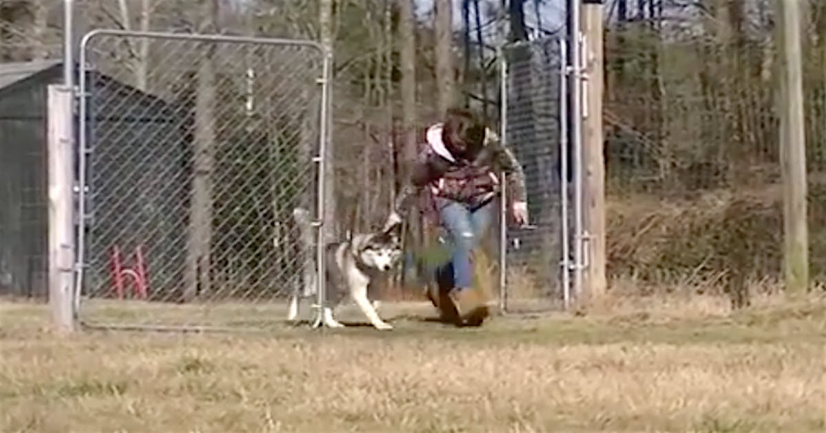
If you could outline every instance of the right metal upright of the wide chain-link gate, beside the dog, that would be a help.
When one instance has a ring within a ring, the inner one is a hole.
[[[318,156],[316,157],[316,162],[318,162],[318,198],[317,198],[317,212],[318,216],[316,218],[316,320],[313,322],[313,327],[321,327],[324,326],[324,305],[325,305],[325,286],[326,286],[326,279],[325,279],[325,224],[333,224],[332,221],[325,221],[325,172],[327,168],[327,161],[325,158],[327,152],[327,134],[329,134],[328,129],[330,126],[330,122],[327,119],[330,111],[330,58],[332,54],[330,53],[329,49],[324,49],[324,63],[322,65],[322,78],[320,79],[321,82],[321,122],[320,122],[320,131],[319,131],[319,144],[318,144]]]

